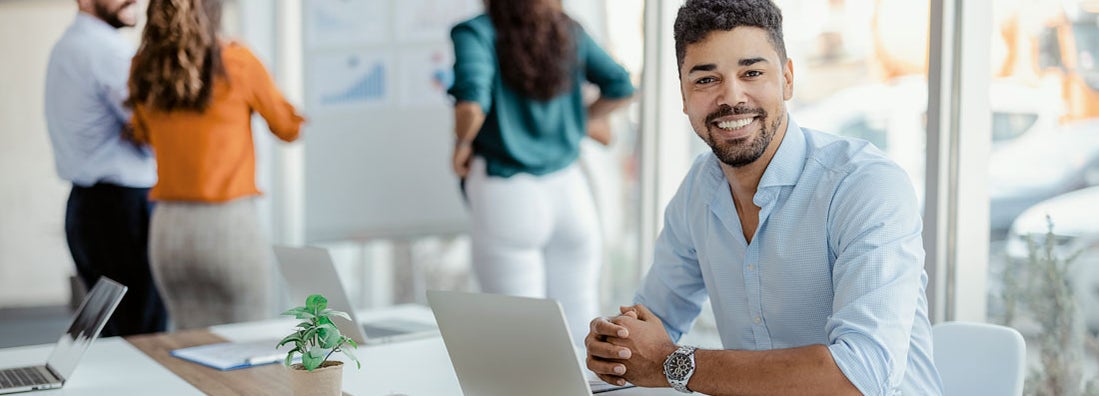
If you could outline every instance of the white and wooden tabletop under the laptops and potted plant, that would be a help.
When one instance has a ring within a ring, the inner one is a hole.
[[[400,316],[434,320],[423,307],[403,307],[364,312],[366,320]],[[223,341],[276,340],[297,323],[292,318],[215,326],[209,330],[132,336],[125,340],[107,338],[96,341],[80,362],[73,380],[57,395],[289,395],[289,383],[281,364],[218,371],[173,358],[175,349]],[[126,342],[129,341],[129,342]],[[2,366],[44,362],[53,345],[0,350]],[[142,353],[144,352],[144,353]],[[441,337],[359,345],[356,355],[363,369],[345,365],[343,388],[355,396],[447,396],[462,395],[454,369]],[[342,356],[341,356],[342,358]],[[670,396],[669,388],[629,388],[601,395]]]

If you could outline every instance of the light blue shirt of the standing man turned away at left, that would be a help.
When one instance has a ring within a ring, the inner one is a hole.
[[[77,13],[54,45],[46,69],[46,125],[57,175],[78,186],[104,182],[126,187],[156,184],[146,147],[122,139],[130,122],[126,80],[133,46],[95,16]]]

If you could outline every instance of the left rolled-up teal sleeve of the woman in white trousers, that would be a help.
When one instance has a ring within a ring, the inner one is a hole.
[[[462,23],[451,30],[454,42],[454,85],[447,94],[456,101],[473,101],[488,112],[492,105],[495,43],[473,26]]]

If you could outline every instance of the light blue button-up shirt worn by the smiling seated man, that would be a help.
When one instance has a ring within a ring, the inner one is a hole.
[[[709,297],[725,349],[824,344],[863,394],[942,394],[908,175],[865,141],[790,119],[753,201],[747,243],[719,160],[700,155],[636,302],[678,340]]]

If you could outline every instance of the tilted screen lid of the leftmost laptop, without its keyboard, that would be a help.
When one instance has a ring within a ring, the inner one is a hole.
[[[49,353],[46,366],[54,374],[60,376],[63,381],[73,376],[80,358],[99,338],[99,332],[107,326],[107,320],[114,314],[114,308],[125,294],[125,286],[106,276],[99,277],[96,286],[88,292],[77,308],[68,330],[62,334],[53,352]]]

